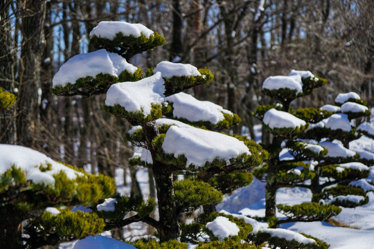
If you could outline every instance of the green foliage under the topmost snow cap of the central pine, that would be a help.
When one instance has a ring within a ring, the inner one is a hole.
[[[105,48],[105,50],[121,55],[127,60],[136,54],[161,46],[165,42],[166,39],[157,32],[154,32],[150,37],[146,37],[143,33],[140,37],[125,36],[120,32],[116,33],[113,39],[101,38],[96,35],[89,39],[89,43],[95,48]]]

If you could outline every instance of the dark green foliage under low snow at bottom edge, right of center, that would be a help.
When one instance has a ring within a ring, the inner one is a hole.
[[[306,234],[303,234],[304,236]],[[306,237],[306,236],[305,236]],[[308,236],[309,239],[314,239],[314,237]],[[262,243],[269,243],[271,248],[287,248],[287,249],[327,249],[329,246],[327,243],[320,241],[319,239],[314,239],[314,243],[300,243],[295,239],[287,240],[280,237],[271,237],[269,232],[258,231],[256,234],[248,234],[248,240],[253,241],[256,245],[261,245]]]

